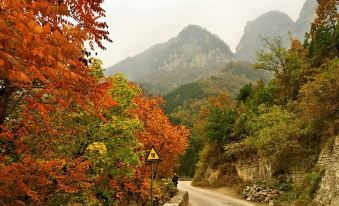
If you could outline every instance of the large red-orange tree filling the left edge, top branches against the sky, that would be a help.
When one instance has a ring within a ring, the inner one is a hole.
[[[101,0],[0,3],[0,204],[45,204],[57,191],[88,188],[89,162],[48,150],[65,112],[101,114],[115,105],[110,82],[84,64],[84,42],[110,41]],[[88,110],[91,105],[91,110]],[[72,136],[68,136],[71,138]],[[37,147],[33,147],[33,146]],[[39,155],[40,154],[40,155]],[[14,195],[15,194],[15,195]]]

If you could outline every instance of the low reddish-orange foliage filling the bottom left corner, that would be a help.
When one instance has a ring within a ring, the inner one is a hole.
[[[67,165],[64,162],[36,161],[27,156],[19,163],[0,163],[0,204],[6,205],[6,200],[10,200],[10,205],[14,201],[27,203],[29,197],[36,205],[53,192],[73,193],[88,188],[88,162],[81,159]]]

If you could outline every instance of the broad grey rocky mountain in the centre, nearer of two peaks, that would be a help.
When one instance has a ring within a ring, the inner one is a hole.
[[[234,58],[218,36],[196,25],[184,28],[177,37],[157,44],[106,70],[123,72],[150,93],[166,93],[222,68]]]

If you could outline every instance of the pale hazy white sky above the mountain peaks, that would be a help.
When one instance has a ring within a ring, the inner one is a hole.
[[[305,0],[105,0],[110,37],[104,67],[176,36],[189,24],[218,35],[235,51],[246,25],[272,10],[298,18]]]

